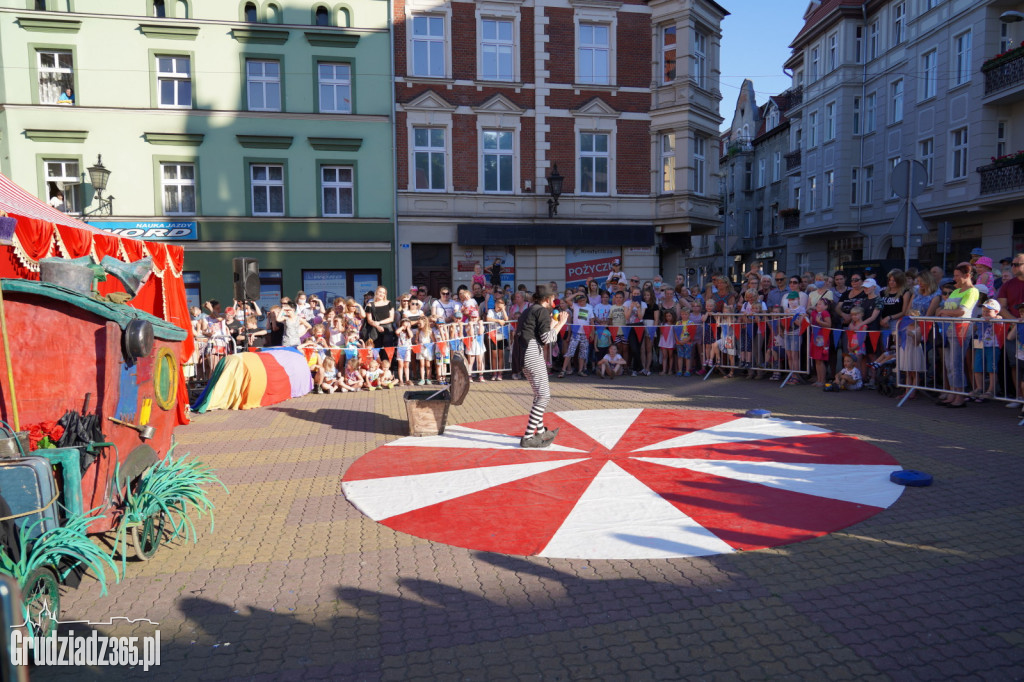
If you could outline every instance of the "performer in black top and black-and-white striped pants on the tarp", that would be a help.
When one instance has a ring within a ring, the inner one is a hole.
[[[552,316],[554,300],[554,292],[547,291],[543,286],[538,287],[534,304],[519,315],[516,325],[512,371],[522,374],[534,390],[529,423],[519,441],[521,447],[547,447],[558,435],[558,429],[548,431],[544,428],[544,412],[551,401],[551,391],[543,349],[545,344],[553,343],[558,338],[558,332],[566,323],[566,318],[558,319],[557,312]]]

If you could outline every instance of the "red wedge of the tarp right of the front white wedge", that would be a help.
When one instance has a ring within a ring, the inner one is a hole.
[[[729,545],[788,545],[845,528],[878,507],[818,498],[710,474],[626,461],[621,466]]]

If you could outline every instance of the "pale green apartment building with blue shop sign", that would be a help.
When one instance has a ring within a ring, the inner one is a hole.
[[[182,245],[193,301],[238,256],[265,303],[391,289],[390,73],[380,0],[0,0],[0,172]]]

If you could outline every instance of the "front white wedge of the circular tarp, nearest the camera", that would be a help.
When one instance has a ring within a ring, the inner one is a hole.
[[[540,556],[664,559],[732,551],[614,462],[607,462]]]

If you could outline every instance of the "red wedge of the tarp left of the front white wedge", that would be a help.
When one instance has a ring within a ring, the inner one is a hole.
[[[539,554],[603,466],[588,460],[386,519],[400,532],[501,554]]]

